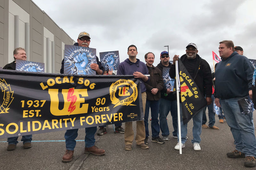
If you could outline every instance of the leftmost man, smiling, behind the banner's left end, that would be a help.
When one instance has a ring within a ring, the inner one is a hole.
[[[15,48],[13,51],[13,58],[14,61],[12,63],[6,64],[3,69],[6,70],[16,70],[16,59],[17,60],[27,60],[26,51],[24,48]],[[16,145],[18,144],[17,141],[18,137],[8,137],[7,142],[7,151],[12,151],[16,149]],[[24,135],[21,138],[21,141],[23,141],[23,148],[28,149],[32,147],[31,141],[32,141],[32,135]]]

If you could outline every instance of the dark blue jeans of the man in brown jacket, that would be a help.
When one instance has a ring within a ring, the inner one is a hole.
[[[151,110],[151,131],[152,137],[159,137],[160,133],[160,126],[158,121],[158,111],[159,111],[159,101],[157,100],[147,100],[146,101],[146,108],[145,108],[145,115],[144,115],[144,124],[145,124],[145,132],[146,137],[149,136],[148,132],[148,115],[149,115],[149,107]]]

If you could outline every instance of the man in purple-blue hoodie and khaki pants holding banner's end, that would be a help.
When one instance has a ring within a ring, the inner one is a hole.
[[[136,58],[138,52],[137,47],[135,45],[130,45],[128,47],[127,52],[129,58],[127,58],[124,62],[120,63],[117,75],[133,75],[134,78],[140,79],[140,89],[141,89],[141,98],[143,104],[143,113],[145,114],[146,107],[146,86],[144,82],[149,82],[149,78],[145,76],[148,74],[148,68],[145,63],[141,62]],[[146,133],[145,133],[145,124],[144,121],[136,122],[136,146],[142,149],[148,149],[148,145],[144,143]],[[125,130],[124,130],[124,149],[127,151],[132,150],[132,141],[134,138],[134,133],[132,129],[132,122],[125,122]]]

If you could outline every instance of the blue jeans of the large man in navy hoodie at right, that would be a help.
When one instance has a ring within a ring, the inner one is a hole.
[[[221,106],[225,118],[235,139],[236,150],[243,152],[245,156],[256,157],[256,139],[254,135],[253,115],[242,115],[237,100],[231,98],[221,100]]]

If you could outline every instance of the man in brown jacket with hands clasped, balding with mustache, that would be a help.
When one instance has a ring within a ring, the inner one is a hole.
[[[144,116],[144,123],[145,123],[145,131],[146,131],[146,138],[144,140],[145,144],[148,144],[148,114],[149,114],[149,107],[151,109],[151,130],[152,130],[152,142],[157,142],[158,144],[164,144],[164,140],[159,137],[160,133],[160,126],[158,120],[158,111],[159,111],[159,99],[161,97],[161,90],[163,89],[164,83],[162,78],[162,72],[155,66],[153,66],[155,60],[155,55],[152,52],[148,52],[145,54],[145,61],[148,67],[148,73],[150,75],[150,82],[145,83],[146,85],[146,108],[145,108],[145,116]]]

